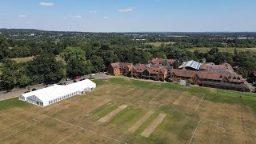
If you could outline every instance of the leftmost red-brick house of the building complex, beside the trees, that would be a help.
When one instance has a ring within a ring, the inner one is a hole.
[[[126,74],[126,66],[132,65],[131,63],[126,62],[115,62],[111,63],[108,67],[107,71],[109,74],[116,75],[116,74]]]

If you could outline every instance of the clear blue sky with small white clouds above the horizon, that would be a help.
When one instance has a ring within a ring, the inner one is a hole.
[[[2,0],[0,28],[256,31],[255,0]]]

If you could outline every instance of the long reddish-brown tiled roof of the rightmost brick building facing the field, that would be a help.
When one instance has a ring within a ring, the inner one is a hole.
[[[230,82],[244,82],[242,75],[239,74],[224,74],[212,71],[195,71],[195,70],[178,70],[174,69],[173,72],[178,77],[193,78],[198,75],[199,78],[209,79],[209,80],[222,80],[223,78],[228,78]]]

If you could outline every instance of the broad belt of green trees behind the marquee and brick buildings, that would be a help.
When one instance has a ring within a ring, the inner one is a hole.
[[[178,44],[145,47],[142,42],[122,34],[79,34],[42,35],[24,40],[0,36],[0,90],[59,82],[105,71],[112,62],[146,63],[151,58],[174,58],[180,63],[191,59],[200,62],[203,58],[216,64],[229,62],[245,78],[250,71],[256,70],[256,55],[237,49],[233,53],[220,52],[218,48],[206,53],[190,52],[186,50],[190,46],[180,48]],[[63,61],[57,61],[56,55],[60,55]],[[20,63],[10,60],[26,56],[34,56],[34,59]],[[180,63],[175,63],[174,68]]]

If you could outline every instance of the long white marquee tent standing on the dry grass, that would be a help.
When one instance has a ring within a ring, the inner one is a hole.
[[[41,90],[31,91],[20,95],[18,98],[21,101],[30,102],[34,105],[48,106],[74,95],[84,94],[86,91],[92,91],[95,88],[96,84],[89,79],[86,79],[66,86],[54,85]]]

